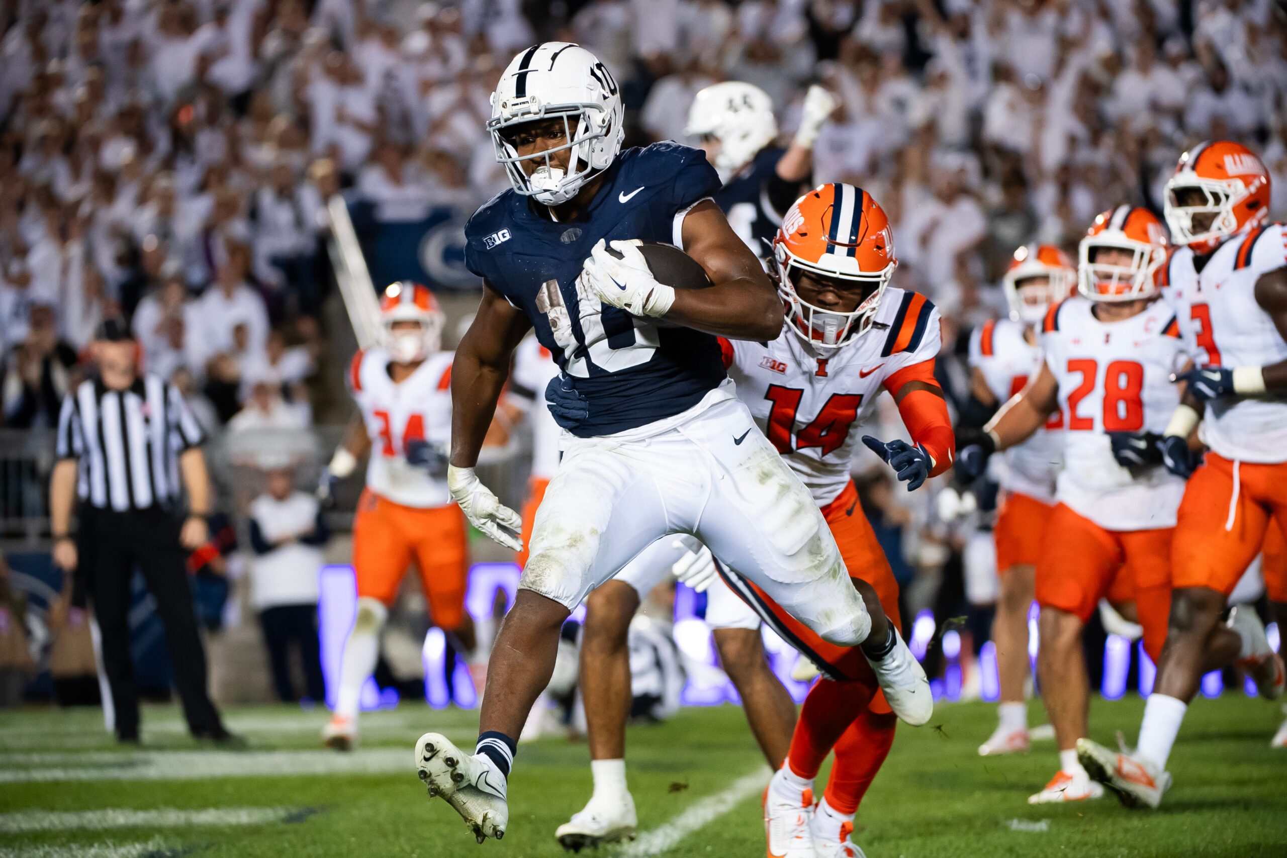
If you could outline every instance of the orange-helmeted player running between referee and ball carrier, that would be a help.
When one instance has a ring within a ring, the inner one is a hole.
[[[359,414],[323,473],[347,477],[368,450],[367,488],[353,524],[358,615],[344,646],[340,693],[323,741],[347,750],[358,737],[362,686],[376,668],[380,630],[412,563],[434,624],[474,648],[465,614],[465,518],[447,490],[452,354],[440,351],[443,311],[427,288],[395,283],[380,300],[385,343],[358,351],[349,388]]]

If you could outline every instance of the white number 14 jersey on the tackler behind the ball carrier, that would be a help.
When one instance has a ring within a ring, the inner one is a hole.
[[[819,358],[789,328],[770,343],[721,340],[728,376],[755,424],[821,507],[849,481],[855,423],[885,379],[933,360],[941,345],[938,310],[915,292],[889,288],[865,334]]]

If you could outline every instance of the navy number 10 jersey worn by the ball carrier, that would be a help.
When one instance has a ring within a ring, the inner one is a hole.
[[[655,143],[616,156],[586,215],[557,224],[506,190],[465,225],[465,265],[528,314],[537,340],[589,400],[577,435],[622,432],[696,405],[725,378],[714,336],[659,325],[578,293],[598,239],[676,243],[674,216],[719,176],[699,149]]]

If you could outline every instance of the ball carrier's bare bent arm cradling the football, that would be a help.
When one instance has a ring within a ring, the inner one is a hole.
[[[781,298],[759,260],[709,199],[683,217],[683,250],[714,286],[677,289],[667,320],[732,340],[775,340],[781,333]]]

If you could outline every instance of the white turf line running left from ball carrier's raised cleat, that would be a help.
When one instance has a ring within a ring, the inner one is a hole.
[[[5,762],[51,768],[4,769],[0,783],[50,781],[187,781],[414,771],[408,747],[336,751],[144,751],[142,754],[6,754]],[[86,768],[89,763],[91,768]],[[77,764],[75,768],[68,764]]]

